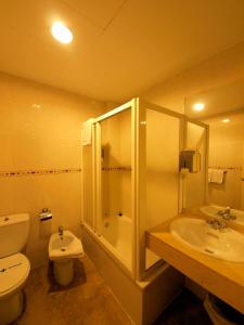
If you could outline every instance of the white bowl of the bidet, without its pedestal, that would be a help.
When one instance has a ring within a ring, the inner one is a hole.
[[[84,256],[81,242],[69,231],[64,231],[63,237],[55,233],[49,242],[50,260],[72,259]]]

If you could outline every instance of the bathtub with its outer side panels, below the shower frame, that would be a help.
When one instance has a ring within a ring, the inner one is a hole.
[[[181,291],[184,276],[169,264],[163,263],[142,282],[136,280],[131,261],[130,218],[106,218],[103,220],[102,230],[102,235],[97,235],[86,223],[82,224],[86,253],[111,287],[131,323],[153,324]]]

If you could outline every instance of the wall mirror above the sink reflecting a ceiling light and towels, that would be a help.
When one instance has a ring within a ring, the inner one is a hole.
[[[244,225],[244,79],[187,98],[185,115],[206,123],[209,130],[207,204],[216,206],[217,211],[231,207]],[[190,136],[192,133],[188,134],[192,142]],[[198,138],[195,135],[195,141]],[[201,188],[205,184],[203,178],[197,183]]]

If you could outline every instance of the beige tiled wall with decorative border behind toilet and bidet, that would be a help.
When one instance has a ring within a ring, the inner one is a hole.
[[[0,74],[0,172],[57,171],[0,176],[0,216],[30,213],[26,253],[33,268],[47,261],[49,235],[60,224],[79,235],[81,123],[103,107],[87,98]],[[44,207],[52,210],[53,219],[40,223],[38,212]]]

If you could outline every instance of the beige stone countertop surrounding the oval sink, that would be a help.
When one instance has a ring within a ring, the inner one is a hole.
[[[181,217],[201,218],[201,214],[185,212],[175,218]],[[146,232],[146,247],[202,287],[244,313],[244,263],[214,259],[182,245],[169,232],[169,224],[175,218]]]

